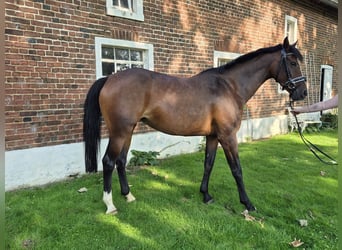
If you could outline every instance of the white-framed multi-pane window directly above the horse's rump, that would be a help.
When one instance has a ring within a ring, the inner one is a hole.
[[[96,78],[128,68],[153,70],[153,45],[126,40],[95,38]]]

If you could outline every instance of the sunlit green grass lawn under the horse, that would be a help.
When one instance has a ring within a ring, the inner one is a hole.
[[[306,136],[337,156],[337,130]],[[241,215],[219,149],[210,205],[199,193],[203,152],[131,169],[133,203],[120,195],[115,174],[115,216],[104,214],[101,174],[7,192],[6,249],[291,249],[295,238],[304,242],[299,248],[337,249],[337,166],[316,160],[297,134],[240,144],[239,151],[256,221]],[[81,187],[88,192],[78,193]]]

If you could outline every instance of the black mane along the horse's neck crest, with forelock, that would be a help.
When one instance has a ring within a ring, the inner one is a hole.
[[[226,71],[227,69],[231,69],[232,67],[234,67],[237,64],[240,63],[244,63],[246,61],[252,60],[253,58],[261,55],[261,54],[266,54],[266,53],[273,53],[276,52],[278,50],[281,50],[283,48],[282,44],[278,44],[276,46],[272,46],[272,47],[268,47],[268,48],[261,48],[255,51],[252,51],[250,53],[244,54],[242,56],[239,56],[238,58],[224,64],[221,65],[217,68],[210,68],[207,70],[202,71],[201,73],[204,72],[208,72],[208,71],[216,71],[217,73],[222,74],[224,71]],[[302,61],[303,60],[303,56],[301,55],[301,53],[299,52],[299,50],[295,47],[295,45],[290,45],[290,53],[293,53],[298,60]]]

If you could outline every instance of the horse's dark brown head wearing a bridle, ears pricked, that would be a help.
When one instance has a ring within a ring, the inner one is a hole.
[[[303,100],[308,94],[305,84],[306,77],[302,75],[298,64],[298,60],[302,61],[303,56],[296,49],[296,43],[290,45],[288,38],[284,39],[275,77],[276,81],[289,92],[294,101]]]

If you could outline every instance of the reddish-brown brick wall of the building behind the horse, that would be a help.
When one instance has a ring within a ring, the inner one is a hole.
[[[287,14],[298,19],[299,49],[337,71],[337,10],[312,1],[145,0],[143,22],[107,16],[105,0],[5,2],[6,150],[82,140],[95,37],[151,43],[155,71],[191,76],[213,66],[214,50],[280,43]],[[286,102],[268,81],[247,106],[266,117],[284,113]]]

